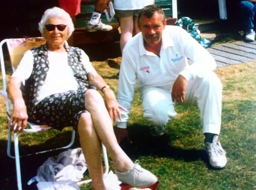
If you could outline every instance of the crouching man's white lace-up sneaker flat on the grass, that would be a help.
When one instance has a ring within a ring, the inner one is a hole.
[[[209,154],[209,162],[212,167],[222,168],[227,163],[226,152],[221,147],[221,142],[218,135],[215,135],[212,143],[205,143],[206,152]]]

